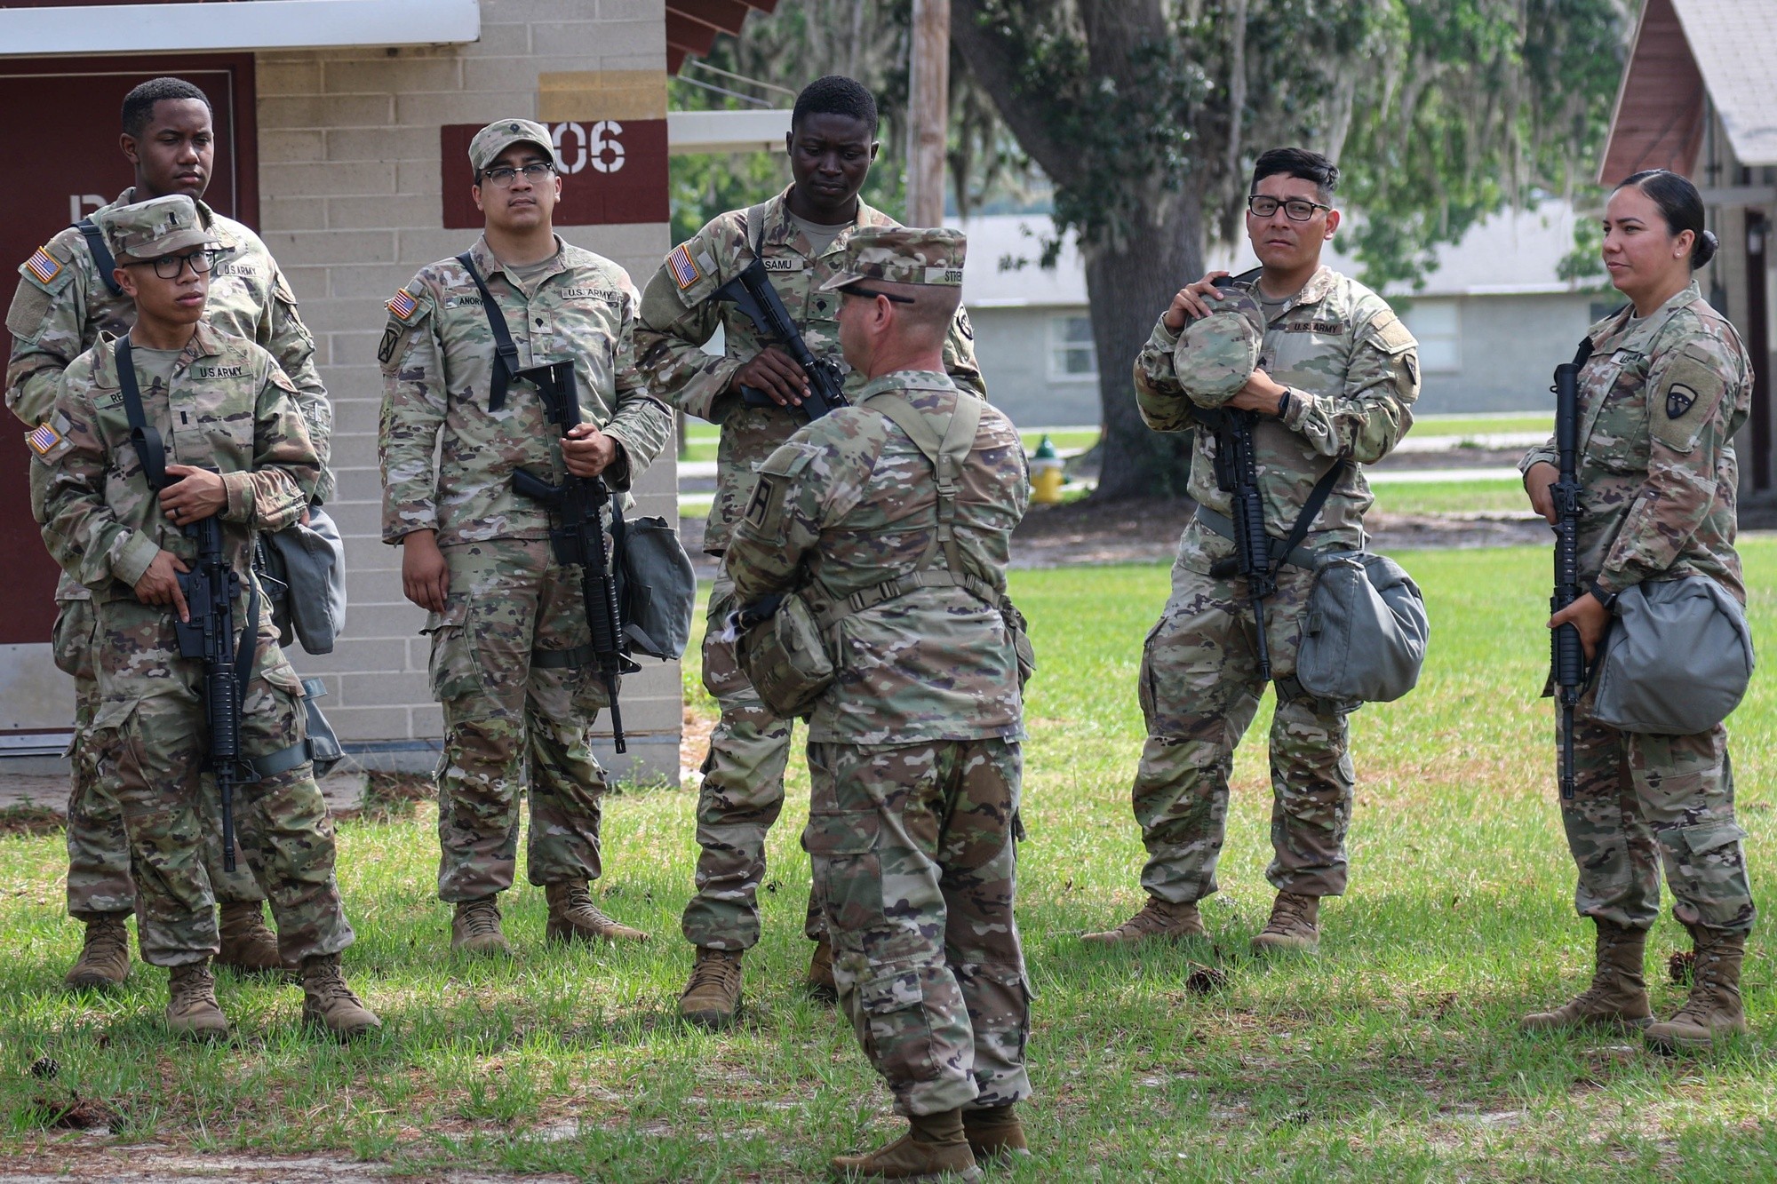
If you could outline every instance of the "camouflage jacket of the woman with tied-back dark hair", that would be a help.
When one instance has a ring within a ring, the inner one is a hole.
[[[1638,325],[1592,325],[1580,372],[1580,578],[1605,592],[1704,574],[1741,601],[1740,469],[1729,443],[1752,407],[1740,334],[1692,283]],[[1566,359],[1564,359],[1566,361]],[[1558,464],[1555,439],[1521,468]]]

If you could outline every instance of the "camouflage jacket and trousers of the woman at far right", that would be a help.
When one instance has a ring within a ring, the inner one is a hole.
[[[1695,283],[1640,324],[1631,311],[1592,325],[1580,373],[1580,581],[1617,594],[1708,576],[1743,603],[1729,441],[1747,421],[1752,364]],[[1558,464],[1553,439],[1521,468],[1537,462]],[[1679,921],[1750,930],[1727,729],[1619,732],[1592,720],[1590,706],[1592,688],[1574,718],[1574,798],[1560,804],[1580,916],[1647,930],[1663,864]]]

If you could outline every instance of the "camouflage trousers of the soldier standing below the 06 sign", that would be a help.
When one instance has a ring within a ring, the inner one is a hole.
[[[546,539],[444,548],[450,597],[432,622],[432,693],[444,704],[439,757],[439,898],[512,887],[519,788],[530,788],[531,884],[597,880],[604,770],[590,734],[606,708],[590,665],[546,665],[590,645],[578,567]]]

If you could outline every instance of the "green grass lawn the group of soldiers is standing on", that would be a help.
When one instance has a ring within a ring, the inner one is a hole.
[[[1777,626],[1777,542],[1747,544],[1754,628]],[[1018,1180],[1754,1180],[1777,1161],[1770,928],[1747,960],[1752,1035],[1663,1060],[1608,1035],[1516,1033],[1590,965],[1555,809],[1551,709],[1537,699],[1548,551],[1416,551],[1432,649],[1406,700],[1354,716],[1352,889],[1324,910],[1319,958],[1258,964],[1246,940],[1271,901],[1271,795],[1260,747],[1235,773],[1215,944],[1105,951],[1077,940],[1139,903],[1128,780],[1141,745],[1134,681],[1166,567],[1013,572],[1041,670],[1031,684],[1018,914],[1034,1004],[1029,1127]],[[691,708],[707,711],[688,670]],[[1733,720],[1754,892],[1772,900],[1773,681]],[[78,930],[62,916],[59,834],[0,839],[0,1159],[53,1164],[44,1131],[69,1092],[116,1113],[112,1140],[297,1154],[334,1148],[412,1173],[569,1172],[601,1180],[794,1180],[830,1154],[899,1131],[835,1015],[798,980],[809,864],[807,773],[771,837],[764,940],[748,956],[746,1022],[672,1019],[689,948],[689,791],[631,791],[606,812],[606,910],[654,933],[633,949],[542,944],[542,892],[506,898],[512,962],[446,951],[434,900],[435,812],[341,825],[359,944],[352,981],[387,1028],[336,1047],[306,1035],[293,987],[224,978],[231,1047],[158,1028],[165,976],[137,967],[116,997],[69,997]],[[1656,1006],[1681,930],[1654,930]],[[1228,972],[1192,994],[1192,962]],[[52,1056],[53,1081],[27,1067]],[[1763,1164],[1763,1166],[1761,1166]]]

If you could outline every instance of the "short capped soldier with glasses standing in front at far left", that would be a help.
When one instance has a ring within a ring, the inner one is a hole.
[[[265,596],[251,569],[254,537],[307,507],[320,455],[277,361],[203,320],[210,270],[226,254],[195,203],[155,197],[96,222],[117,283],[135,300],[133,327],[124,341],[101,334],[64,372],[55,409],[32,437],[34,487],[44,542],[92,594],[100,700],[91,759],[123,805],[142,956],[171,967],[169,1028],[227,1033],[210,976],[220,939],[204,820],[220,804],[203,777],[204,667],[179,656],[172,628],[174,615],[188,619],[176,572],[197,551],[179,528],[215,516],[242,580],[240,644],[256,647],[242,688],[240,752],[258,777],[238,789],[240,848],[270,894],[283,956],[302,971],[304,1019],[359,1035],[380,1024],[339,972],[352,926],[334,880],[332,821],[307,759],[302,683],[259,612]],[[151,446],[131,444],[123,364],[169,459],[171,484],[158,494],[146,468]]]

